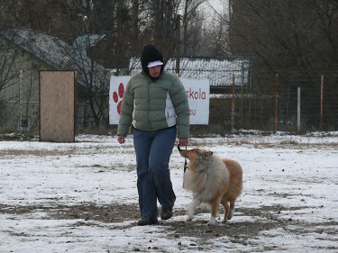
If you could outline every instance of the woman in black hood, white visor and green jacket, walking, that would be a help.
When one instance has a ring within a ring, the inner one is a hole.
[[[128,82],[121,107],[117,140],[133,126],[137,163],[137,188],[142,220],[138,225],[158,223],[172,216],[176,195],[172,189],[169,158],[178,135],[179,145],[187,145],[189,106],[184,86],[178,77],[164,71],[163,56],[152,44],[143,48],[142,73]]]

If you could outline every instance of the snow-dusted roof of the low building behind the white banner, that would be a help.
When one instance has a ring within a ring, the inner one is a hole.
[[[211,90],[226,89],[233,86],[251,86],[251,61],[248,58],[233,57],[228,59],[179,59],[179,77],[208,78]],[[139,58],[130,60],[132,75],[142,70]],[[176,72],[176,59],[169,59],[166,70]]]

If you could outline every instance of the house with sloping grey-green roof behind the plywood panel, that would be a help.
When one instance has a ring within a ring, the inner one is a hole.
[[[42,32],[0,31],[0,130],[39,128],[40,70],[77,71],[78,122],[83,121],[90,113],[89,96],[106,96],[109,87],[109,70],[86,56],[86,48],[100,38],[92,39],[92,35],[79,37],[71,47]]]

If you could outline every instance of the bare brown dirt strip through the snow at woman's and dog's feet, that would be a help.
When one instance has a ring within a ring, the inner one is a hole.
[[[302,208],[286,208],[283,206],[267,206],[258,209],[252,208],[238,208],[235,210],[233,221],[228,223],[221,223],[221,215],[216,220],[215,226],[207,226],[207,220],[198,218],[198,214],[209,213],[204,206],[196,208],[196,219],[191,222],[187,221],[160,221],[160,226],[167,227],[169,237],[178,239],[181,237],[198,238],[200,245],[207,244],[209,239],[216,239],[226,236],[233,243],[240,243],[242,245],[251,244],[251,239],[260,235],[261,231],[273,230],[282,228],[288,232],[295,234],[306,234],[308,232],[317,233],[320,235],[325,230],[326,233],[338,233],[335,229],[338,226],[337,221],[328,221],[327,223],[308,223],[303,221],[296,221],[293,219],[285,219],[281,217],[281,212],[296,211],[306,209]],[[54,220],[84,220],[75,223],[75,226],[91,226],[97,223],[90,221],[100,221],[104,223],[121,223],[123,221],[137,221],[140,219],[140,212],[137,204],[110,204],[98,206],[95,203],[84,203],[75,206],[9,206],[0,204],[1,213],[23,215],[25,213],[44,212],[42,219]],[[223,212],[223,210],[221,210]],[[186,211],[183,209],[175,209],[175,216],[185,215]],[[221,213],[223,214],[223,213]],[[209,215],[209,214],[208,214]],[[252,217],[257,221],[242,221],[236,222],[236,217]],[[284,217],[284,216],[283,216]],[[124,230],[128,227],[137,226],[136,222],[128,225],[118,224],[114,229]],[[266,248],[267,250],[269,248]]]

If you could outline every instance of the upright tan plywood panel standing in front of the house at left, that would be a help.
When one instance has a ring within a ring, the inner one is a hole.
[[[40,140],[75,140],[75,71],[40,71],[40,120]]]

